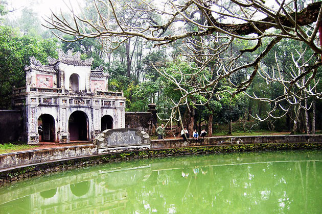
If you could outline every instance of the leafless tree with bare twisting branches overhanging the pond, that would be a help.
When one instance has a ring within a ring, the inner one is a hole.
[[[216,94],[216,87],[223,79],[227,79],[235,88],[233,96],[245,93],[256,75],[260,75],[268,82],[282,84],[284,94],[274,99],[248,94],[254,99],[272,103],[267,118],[281,117],[273,114],[277,108],[281,108],[285,114],[291,110],[289,106],[308,109],[302,101],[309,96],[316,98],[321,96],[320,93],[313,91],[317,83],[310,85],[316,74],[315,68],[321,64],[320,60],[313,60],[313,63],[311,60],[298,65],[298,60],[294,59],[297,70],[290,71],[289,79],[283,77],[281,73],[270,75],[261,67],[261,60],[274,45],[285,38],[305,43],[315,53],[312,56],[314,59],[322,54],[316,39],[321,26],[321,2],[310,4],[296,0],[275,0],[267,3],[261,0],[165,0],[165,2],[132,0],[126,4],[111,0],[93,2],[97,12],[95,19],[89,19],[84,14],[76,14],[71,7],[72,19],[52,13],[45,19],[46,26],[74,35],[75,40],[100,37],[107,51],[112,51],[132,37],[153,41],[154,46],[182,41],[178,57],[182,61],[194,62],[196,65],[193,67],[194,73],[187,74],[179,70],[176,72],[178,78],[154,67],[175,84],[182,95],[179,101],[173,101],[174,108],[170,119],[167,120],[170,123],[172,119],[181,121],[179,105],[187,105],[189,111],[192,111],[188,98],[194,94],[201,94],[206,98],[206,101],[192,100],[194,105],[204,105],[214,96],[220,99],[219,93]],[[131,13],[120,15],[120,10]],[[179,28],[178,25],[185,27]],[[269,43],[254,60],[243,64],[237,63],[246,53],[258,51],[264,38],[268,38]],[[240,49],[237,53],[231,52],[229,47],[238,41],[245,41],[253,47]],[[299,54],[301,56],[303,53]],[[311,64],[308,64],[309,62]],[[250,71],[249,75],[243,82],[234,84],[230,77],[243,69]],[[311,75],[305,80],[304,77],[310,73]],[[281,101],[285,100],[290,104],[287,108],[281,105]],[[256,118],[264,120],[259,116]],[[296,121],[296,118],[294,120]]]

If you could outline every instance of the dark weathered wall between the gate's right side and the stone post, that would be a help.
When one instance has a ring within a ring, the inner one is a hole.
[[[150,112],[125,112],[125,128],[136,128],[152,135],[152,114]]]

